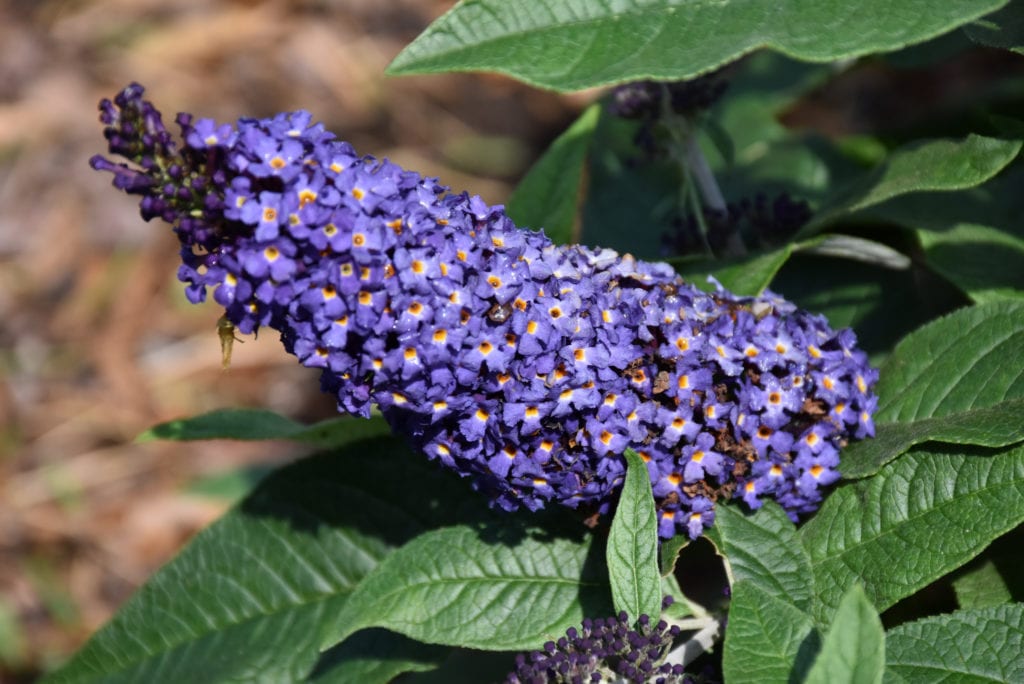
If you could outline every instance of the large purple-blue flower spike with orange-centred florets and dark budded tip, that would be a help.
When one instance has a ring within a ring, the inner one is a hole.
[[[138,85],[100,113],[128,164],[91,164],[173,225],[190,301],[212,290],[241,332],[279,331],[341,411],[376,403],[503,509],[605,513],[632,446],[663,538],[697,537],[722,497],[796,518],[873,433],[877,372],[853,333],[770,293],[554,245],[306,112],[178,115],[180,147]]]

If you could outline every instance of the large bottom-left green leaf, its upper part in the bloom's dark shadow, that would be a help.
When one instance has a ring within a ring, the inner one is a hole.
[[[476,499],[395,439],[290,465],[197,535],[49,681],[300,680],[358,582],[424,525],[485,515]]]

